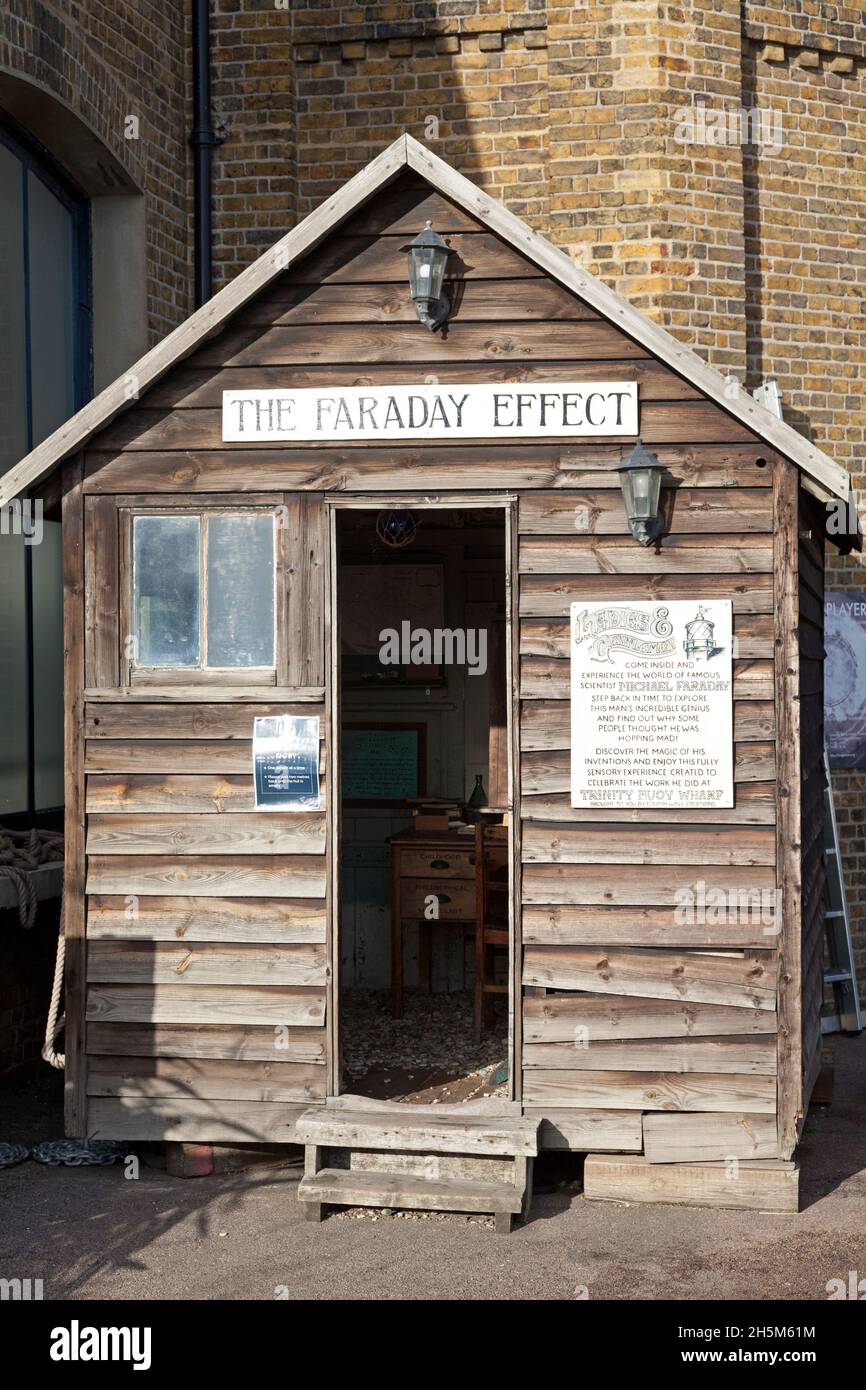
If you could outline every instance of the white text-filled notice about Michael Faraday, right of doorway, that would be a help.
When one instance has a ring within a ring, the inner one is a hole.
[[[731,600],[571,605],[571,805],[733,806]]]

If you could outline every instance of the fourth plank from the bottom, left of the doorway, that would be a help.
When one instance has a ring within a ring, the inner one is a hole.
[[[270,1023],[322,1027],[325,991],[277,986],[92,984],[88,1023]]]

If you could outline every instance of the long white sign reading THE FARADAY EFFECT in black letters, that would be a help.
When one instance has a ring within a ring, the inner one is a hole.
[[[224,391],[222,439],[513,439],[638,434],[634,381]]]

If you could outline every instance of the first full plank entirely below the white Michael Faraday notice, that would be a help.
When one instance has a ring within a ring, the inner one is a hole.
[[[596,812],[595,824],[578,827],[531,823],[523,831],[524,863],[563,865],[773,865],[771,830],[734,826],[692,830],[620,826],[614,834]]]

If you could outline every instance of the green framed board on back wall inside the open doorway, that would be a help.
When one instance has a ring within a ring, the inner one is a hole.
[[[425,733],[424,724],[343,724],[343,802],[400,806],[410,796],[423,796]]]

